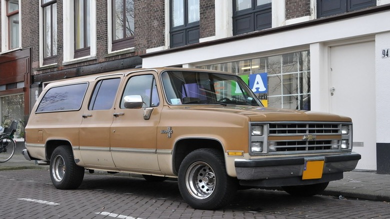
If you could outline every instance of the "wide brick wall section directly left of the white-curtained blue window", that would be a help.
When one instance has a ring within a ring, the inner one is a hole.
[[[134,0],[135,50],[165,45],[164,10],[163,0]]]

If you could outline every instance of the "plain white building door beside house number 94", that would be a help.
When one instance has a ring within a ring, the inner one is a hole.
[[[376,169],[374,49],[374,41],[330,47],[331,112],[352,118],[356,168],[364,169]]]

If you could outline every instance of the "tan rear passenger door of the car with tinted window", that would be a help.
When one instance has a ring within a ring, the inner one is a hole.
[[[113,103],[122,75],[98,78],[90,95],[88,108],[82,114],[79,128],[80,154],[88,167],[115,169],[110,146]]]

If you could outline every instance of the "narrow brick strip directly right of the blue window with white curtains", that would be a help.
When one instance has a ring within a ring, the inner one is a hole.
[[[214,0],[200,0],[200,33],[199,37],[215,35],[215,2]]]

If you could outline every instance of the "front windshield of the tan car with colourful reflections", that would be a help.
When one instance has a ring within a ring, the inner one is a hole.
[[[202,71],[164,71],[161,74],[170,104],[235,104],[262,106],[236,75]]]

